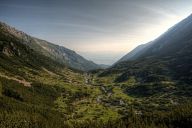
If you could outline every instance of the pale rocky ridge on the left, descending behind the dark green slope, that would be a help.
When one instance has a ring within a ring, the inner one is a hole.
[[[0,22],[0,33],[1,41],[5,38],[14,37],[19,43],[29,46],[30,49],[33,49],[37,53],[74,69],[87,71],[99,68],[97,64],[86,60],[70,49],[31,37],[2,22]],[[14,44],[14,42],[12,43]]]

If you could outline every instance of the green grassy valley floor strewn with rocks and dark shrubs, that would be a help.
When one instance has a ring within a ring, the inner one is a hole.
[[[98,77],[67,68],[18,70],[25,76],[1,68],[2,128],[187,127],[191,123],[187,85],[168,81],[143,85],[134,78],[115,83],[118,75]],[[30,86],[19,82],[24,80]]]

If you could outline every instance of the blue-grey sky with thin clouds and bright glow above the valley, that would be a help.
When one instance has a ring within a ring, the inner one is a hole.
[[[192,0],[0,0],[0,21],[111,65],[192,13]]]

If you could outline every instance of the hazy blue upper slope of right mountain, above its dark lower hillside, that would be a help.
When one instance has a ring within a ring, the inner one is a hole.
[[[125,55],[121,61],[135,60],[144,57],[172,56],[184,52],[190,45],[192,33],[192,15],[171,27],[159,38],[147,44],[136,47],[133,51]]]

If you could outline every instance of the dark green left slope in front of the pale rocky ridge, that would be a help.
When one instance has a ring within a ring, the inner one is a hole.
[[[13,74],[21,73],[19,67],[33,70],[64,68],[65,65],[36,52],[15,36],[0,31],[0,68]]]

